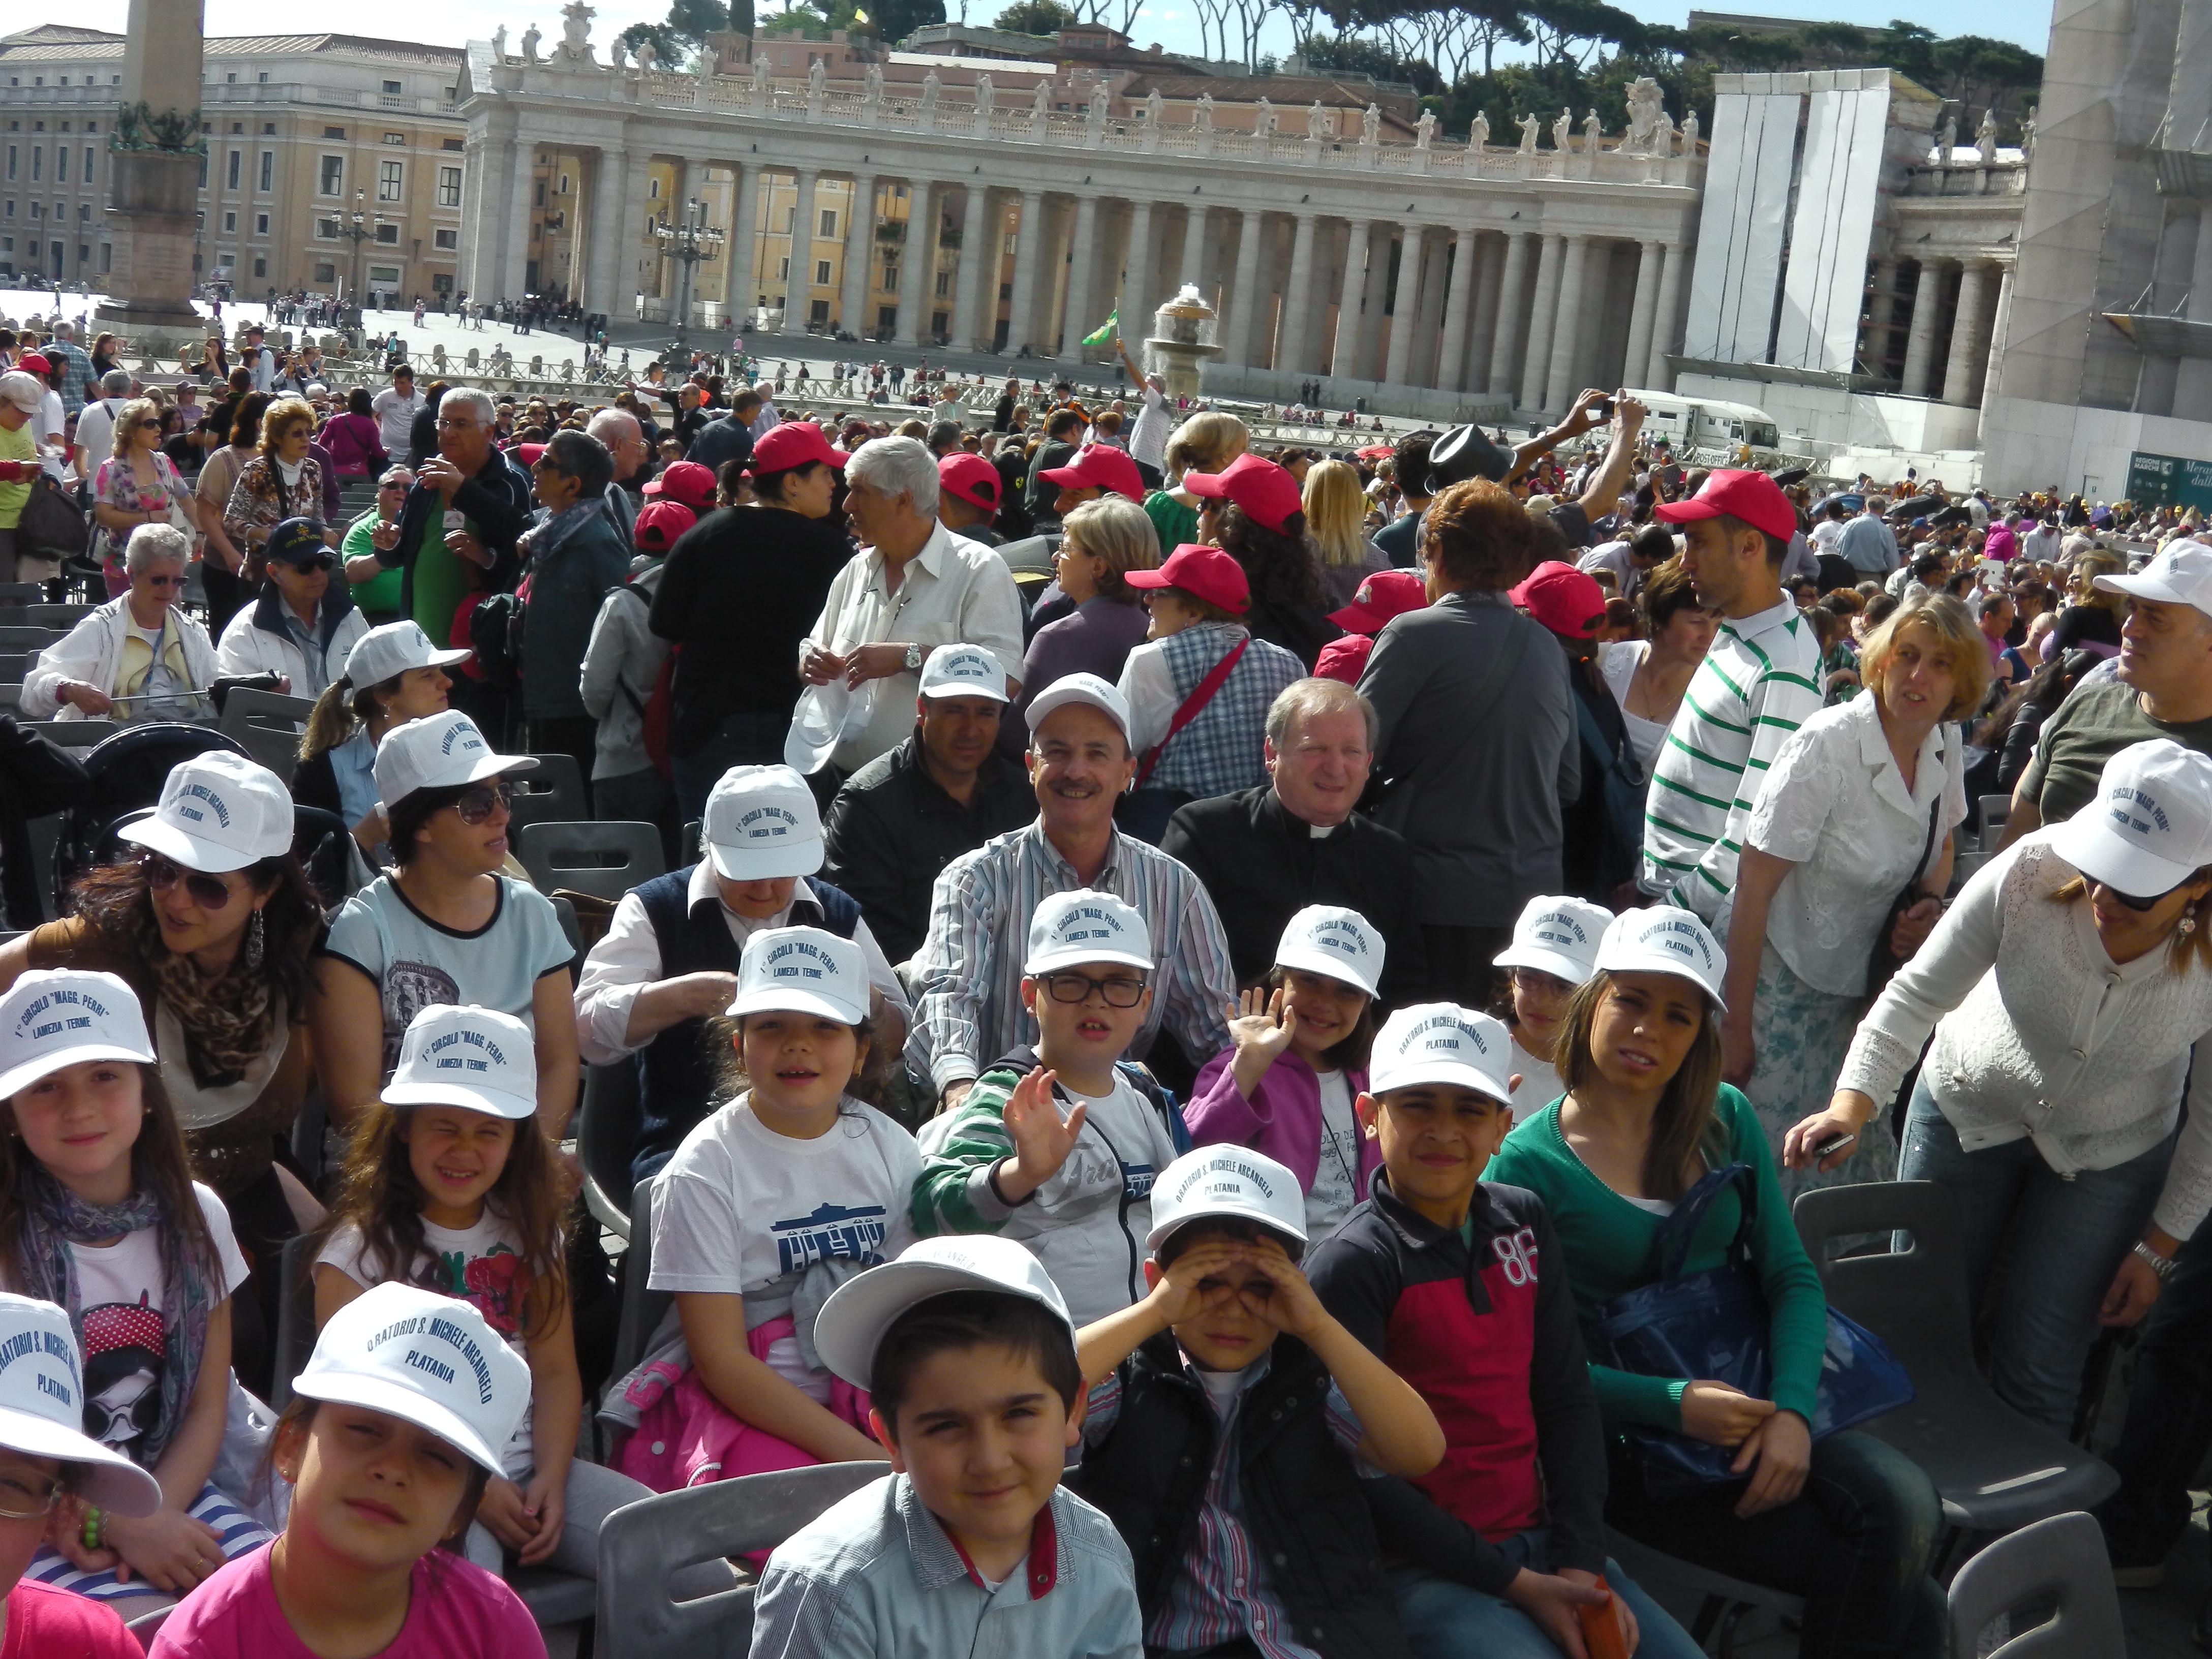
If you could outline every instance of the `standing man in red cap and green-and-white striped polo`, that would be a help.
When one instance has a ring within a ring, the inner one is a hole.
[[[1796,511],[1772,478],[1721,469],[1657,513],[1681,524],[1690,586],[1721,626],[1652,763],[1637,887],[1710,922],[1767,765],[1820,712],[1820,646],[1781,588]]]

